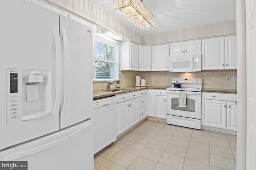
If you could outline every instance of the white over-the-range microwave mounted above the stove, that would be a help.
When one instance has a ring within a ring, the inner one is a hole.
[[[170,72],[200,72],[202,71],[202,55],[188,54],[185,56],[170,56]]]

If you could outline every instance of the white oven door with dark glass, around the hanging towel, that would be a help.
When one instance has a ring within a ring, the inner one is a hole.
[[[186,92],[186,107],[179,107],[179,91],[167,91],[167,114],[201,119],[201,92]]]

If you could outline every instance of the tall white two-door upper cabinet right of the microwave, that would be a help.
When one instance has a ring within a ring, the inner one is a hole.
[[[236,69],[236,36],[202,40],[202,70]]]

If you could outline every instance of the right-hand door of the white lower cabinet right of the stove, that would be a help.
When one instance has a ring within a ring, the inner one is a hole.
[[[237,105],[236,102],[227,102],[227,129],[235,130],[237,127]]]

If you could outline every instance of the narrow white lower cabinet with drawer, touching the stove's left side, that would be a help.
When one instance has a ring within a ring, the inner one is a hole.
[[[166,119],[166,90],[156,90],[156,117]]]

